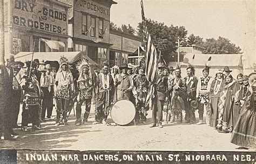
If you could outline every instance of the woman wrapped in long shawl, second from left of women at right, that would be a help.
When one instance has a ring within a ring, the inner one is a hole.
[[[231,74],[225,78],[225,85],[223,91],[220,93],[220,101],[218,103],[218,132],[230,133],[233,130],[232,101],[234,95],[232,94],[232,90],[237,85],[236,83]]]

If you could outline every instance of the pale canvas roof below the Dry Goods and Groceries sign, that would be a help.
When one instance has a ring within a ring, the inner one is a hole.
[[[33,59],[38,60],[48,60],[48,61],[59,61],[61,56],[65,56],[70,63],[75,63],[76,61],[85,58],[89,60],[89,64],[97,66],[98,64],[89,58],[85,52],[76,51],[76,52],[34,52]],[[17,61],[31,60],[32,52],[19,52],[15,55]]]

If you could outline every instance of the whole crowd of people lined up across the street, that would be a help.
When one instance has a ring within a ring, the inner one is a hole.
[[[57,69],[58,67],[58,69]],[[194,67],[189,65],[187,76],[181,77],[180,67],[158,65],[156,83],[145,76],[145,63],[111,69],[104,63],[100,71],[91,70],[87,60],[70,65],[64,56],[59,65],[44,61],[15,61],[8,59],[1,67],[1,131],[5,140],[15,140],[19,105],[22,99],[22,126],[28,131],[41,129],[41,121],[52,118],[56,106],[56,126],[68,125],[68,117],[76,103],[76,126],[88,124],[92,98],[96,99],[95,121],[106,124],[111,105],[120,99],[132,101],[136,108],[134,122],[146,124],[151,101],[152,124],[163,128],[163,124],[176,121],[185,124],[207,124],[221,133],[232,133],[232,143],[239,146],[255,146],[255,86],[249,85],[249,76],[238,74],[237,79],[225,66],[215,77],[209,76],[210,67],[205,66],[202,76],[194,76]],[[250,75],[255,76],[255,75]],[[85,105],[84,115],[82,105]],[[199,121],[195,111],[198,110]],[[204,111],[206,121],[204,122]],[[47,115],[46,115],[47,113]],[[46,117],[46,118],[45,118]],[[245,144],[246,141],[246,144]]]

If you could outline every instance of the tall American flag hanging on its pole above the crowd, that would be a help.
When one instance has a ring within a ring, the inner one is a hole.
[[[145,52],[145,64],[146,64],[146,77],[151,83],[156,83],[157,81],[157,68],[158,68],[158,58],[157,50],[153,45],[150,33],[147,30],[146,18],[144,15],[143,1],[140,2],[142,6],[142,22],[143,22],[143,41],[144,41],[144,52]]]

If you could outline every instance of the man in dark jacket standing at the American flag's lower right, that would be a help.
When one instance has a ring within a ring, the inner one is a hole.
[[[159,63],[158,69],[159,71],[158,71],[157,83],[153,84],[156,86],[156,90],[154,92],[154,98],[152,99],[152,124],[150,127],[155,127],[156,124],[158,124],[159,128],[163,128],[162,121],[163,121],[164,101],[168,101],[169,99],[168,83],[167,83],[168,78],[167,78],[166,67],[162,63]],[[158,122],[157,122],[157,117],[158,117]]]

